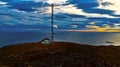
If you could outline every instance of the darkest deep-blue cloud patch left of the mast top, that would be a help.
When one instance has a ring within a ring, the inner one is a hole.
[[[10,5],[12,5],[10,8],[31,12],[47,4],[45,3],[43,4],[42,2],[24,1],[24,2],[11,3]]]

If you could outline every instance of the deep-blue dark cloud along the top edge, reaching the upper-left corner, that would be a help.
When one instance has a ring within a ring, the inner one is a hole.
[[[7,5],[11,5],[9,8],[18,9],[21,11],[33,12],[36,11],[37,8],[45,7],[48,4],[45,2],[35,2],[32,0],[2,0],[3,2],[7,2]]]

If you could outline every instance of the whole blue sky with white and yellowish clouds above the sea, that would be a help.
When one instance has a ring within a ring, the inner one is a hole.
[[[50,30],[51,3],[55,30],[120,28],[119,0],[0,0],[0,30]]]

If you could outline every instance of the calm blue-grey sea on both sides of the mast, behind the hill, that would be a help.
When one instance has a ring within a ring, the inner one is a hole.
[[[41,32],[0,32],[0,47],[28,42],[38,42],[50,37],[50,33]],[[120,33],[105,32],[56,32],[55,41],[73,42],[89,45],[120,45]],[[106,43],[114,42],[114,44]]]

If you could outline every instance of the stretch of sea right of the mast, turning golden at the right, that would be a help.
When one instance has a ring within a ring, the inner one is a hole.
[[[114,42],[114,45],[120,44],[120,33],[103,33],[103,32],[72,32],[58,33],[57,41],[68,41],[90,45],[113,45],[106,41]]]

